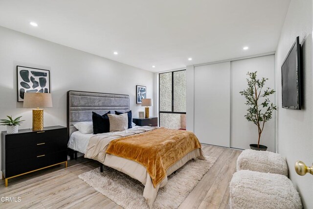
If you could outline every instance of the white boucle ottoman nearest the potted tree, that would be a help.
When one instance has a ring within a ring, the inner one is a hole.
[[[252,170],[263,173],[276,173],[288,177],[286,160],[277,153],[246,149],[237,159],[237,171]]]

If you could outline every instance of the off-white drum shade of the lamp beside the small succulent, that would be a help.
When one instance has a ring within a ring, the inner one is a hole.
[[[52,107],[51,93],[24,93],[23,107]]]

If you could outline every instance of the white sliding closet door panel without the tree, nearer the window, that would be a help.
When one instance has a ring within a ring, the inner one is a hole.
[[[194,121],[201,143],[230,146],[230,62],[195,67]]]

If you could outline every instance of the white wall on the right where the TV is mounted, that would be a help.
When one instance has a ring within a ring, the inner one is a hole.
[[[295,41],[300,36],[304,55],[304,109],[282,108],[281,66]],[[313,163],[313,73],[312,73],[312,0],[291,0],[276,49],[277,143],[278,152],[286,158],[290,179],[300,192],[305,208],[312,209],[313,176],[298,176],[294,163]]]

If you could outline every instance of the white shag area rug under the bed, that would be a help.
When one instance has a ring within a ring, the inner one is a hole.
[[[190,160],[170,175],[167,184],[158,190],[153,208],[177,209],[216,162],[216,158],[205,158]],[[95,168],[78,177],[125,209],[149,209],[142,196],[144,186],[122,172],[105,166],[103,173]]]

